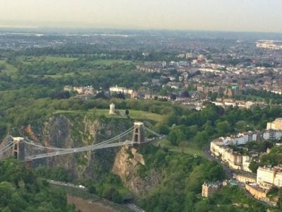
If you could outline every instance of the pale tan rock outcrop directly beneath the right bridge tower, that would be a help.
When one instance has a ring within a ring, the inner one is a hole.
[[[145,166],[145,160],[135,148],[124,146],[115,158],[113,172],[121,177],[125,187],[138,196],[145,196],[160,182],[159,174],[149,170],[149,175],[144,179],[138,175],[140,166]]]

